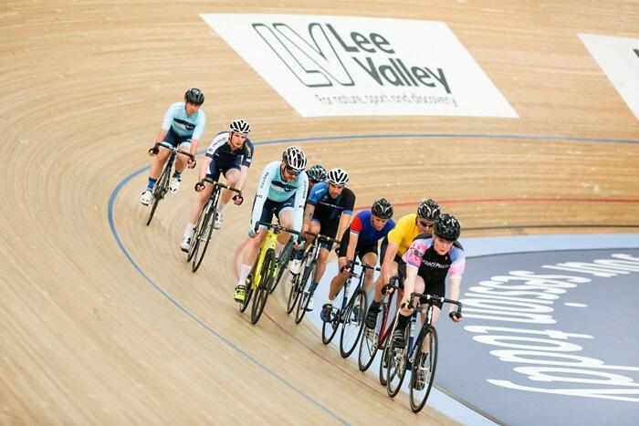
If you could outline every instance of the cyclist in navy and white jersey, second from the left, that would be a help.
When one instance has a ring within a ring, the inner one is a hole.
[[[204,204],[211,198],[213,185],[203,182],[204,177],[217,181],[220,174],[224,174],[226,183],[242,191],[248,177],[248,168],[251,167],[253,160],[253,142],[248,139],[248,133],[251,132],[251,126],[244,119],[234,119],[228,126],[228,131],[221,131],[215,135],[211,142],[211,146],[206,150],[206,156],[200,168],[200,182],[195,184],[195,191],[199,192],[195,198],[189,223],[186,224],[180,249],[188,253],[189,244],[191,243],[191,234],[195,227],[195,222],[202,212]],[[222,227],[222,211],[226,203],[231,199],[233,192],[225,190],[220,197],[215,212],[215,220],[213,227],[220,229]],[[244,199],[241,192],[233,197],[233,202],[240,205]]]

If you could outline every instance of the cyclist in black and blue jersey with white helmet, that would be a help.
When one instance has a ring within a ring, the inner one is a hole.
[[[349,182],[349,173],[343,169],[331,169],[326,180],[327,182],[317,183],[313,187],[313,191],[309,192],[302,230],[335,238],[335,235],[343,234],[351,223],[352,209],[355,207],[355,193],[346,188],[346,184]],[[312,236],[307,237],[309,243],[312,243],[312,240]],[[332,244],[321,243],[320,247],[315,275],[309,288],[310,299],[307,307],[309,311],[313,310],[313,293],[324,275],[326,260],[330,255]],[[299,273],[299,264],[297,262],[291,262],[291,264],[298,266]]]

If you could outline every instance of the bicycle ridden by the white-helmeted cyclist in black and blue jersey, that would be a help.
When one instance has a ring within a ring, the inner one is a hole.
[[[306,235],[314,236],[315,240],[313,240],[313,243],[310,244],[309,250],[307,250],[306,255],[304,255],[302,260],[304,270],[298,275],[293,275],[290,290],[288,292],[287,314],[290,314],[297,304],[298,309],[295,312],[296,324],[299,324],[306,315],[310,297],[313,296],[310,294],[310,286],[313,284],[312,278],[315,275],[315,268],[318,264],[319,249],[321,248],[320,244],[339,243],[338,240],[326,235],[313,233],[306,233],[305,236]]]

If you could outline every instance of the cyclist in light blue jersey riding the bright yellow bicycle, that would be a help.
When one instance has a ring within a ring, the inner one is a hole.
[[[251,272],[259,246],[266,235],[265,227],[260,227],[256,233],[256,223],[270,222],[275,214],[282,226],[301,231],[304,203],[309,191],[309,178],[304,172],[305,168],[306,155],[298,147],[291,146],[284,151],[281,161],[267,164],[262,171],[253,202],[251,228],[248,230],[251,240],[242,255],[242,267],[234,295],[236,302],[244,301],[246,277]],[[293,234],[292,237],[297,241],[297,235]],[[276,255],[282,251],[288,238],[288,233],[278,234]]]

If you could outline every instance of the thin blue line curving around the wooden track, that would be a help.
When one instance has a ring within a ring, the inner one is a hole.
[[[299,139],[264,140],[262,142],[256,142],[256,145],[274,145],[274,144],[278,144],[278,143],[301,143],[301,142],[321,141],[321,140],[367,140],[367,139],[384,139],[384,138],[393,138],[393,139],[397,139],[397,138],[420,138],[420,139],[558,140],[558,141],[581,141],[581,142],[639,144],[639,140],[613,140],[613,139],[600,139],[600,138],[554,137],[554,136],[534,136],[534,135],[533,136],[526,136],[526,135],[498,135],[498,134],[474,134],[474,133],[467,133],[467,134],[463,134],[463,133],[460,133],[460,134],[445,134],[445,133],[405,133],[405,134],[402,134],[402,133],[397,133],[397,134],[344,135],[344,136],[323,136],[323,137],[299,138]],[[204,152],[204,150],[198,151],[198,154],[202,154],[203,152]],[[214,328],[209,327],[206,323],[204,323],[204,321],[202,319],[200,319],[199,317],[196,317],[191,311],[189,311],[187,308],[183,307],[179,302],[177,302],[173,298],[173,296],[171,296],[168,293],[166,293],[162,289],[161,286],[158,286],[157,284],[155,284],[153,282],[153,280],[148,275],[146,275],[144,273],[144,271],[142,271],[141,267],[138,264],[135,263],[135,261],[133,260],[133,258],[129,254],[129,251],[126,249],[126,247],[124,247],[124,244],[122,244],[122,242],[120,240],[120,235],[118,234],[118,231],[117,231],[117,229],[115,227],[115,222],[113,220],[113,205],[114,205],[115,200],[118,197],[118,194],[120,193],[121,189],[127,183],[131,182],[131,180],[134,177],[138,176],[139,174],[141,174],[144,171],[148,171],[149,168],[150,168],[149,166],[143,167],[140,170],[134,171],[129,176],[124,178],[115,187],[113,192],[111,192],[110,197],[109,197],[108,217],[109,217],[110,231],[111,231],[111,234],[113,234],[113,238],[115,239],[116,243],[120,247],[120,251],[122,252],[122,254],[127,258],[127,260],[135,268],[135,270],[138,271],[138,273],[140,273],[140,275],[142,275],[142,277],[151,286],[153,286],[153,288],[155,288],[158,292],[160,292],[160,294],[162,296],[164,296],[167,300],[169,300],[175,307],[177,307],[184,314],[186,314],[186,316],[188,316],[191,319],[193,319],[197,324],[199,324],[200,326],[204,327],[204,329],[206,329],[206,331],[208,331],[209,333],[214,335],[215,338],[219,338],[229,348],[233,348],[234,350],[236,350],[236,352],[240,353],[241,355],[243,355],[247,359],[250,359],[251,362],[256,364],[257,367],[259,367],[260,369],[263,369],[265,372],[267,372],[268,375],[272,376],[274,379],[277,379],[280,383],[284,384],[285,386],[287,386],[291,390],[294,390],[296,393],[298,393],[305,400],[308,400],[311,404],[315,405],[320,410],[323,410],[324,412],[329,414],[330,417],[332,417],[333,419],[335,419],[337,421],[340,421],[340,423],[342,423],[342,424],[348,424],[346,421],[341,419],[340,416],[338,416],[336,413],[334,413],[333,411],[329,410],[327,407],[325,407],[324,405],[319,403],[319,401],[314,400],[313,398],[309,397],[309,395],[305,394],[304,392],[302,392],[301,390],[296,388],[288,380],[283,379],[282,377],[280,377],[275,371],[273,371],[271,369],[268,369],[267,366],[262,364],[259,360],[257,360],[257,358],[254,358],[253,356],[248,354],[246,351],[244,351],[242,348],[237,347],[233,342],[231,342],[230,340],[228,340],[224,336],[220,335],[217,331],[215,331]]]

